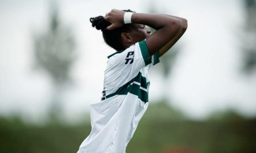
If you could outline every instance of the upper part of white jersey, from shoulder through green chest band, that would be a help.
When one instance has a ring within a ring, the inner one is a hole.
[[[159,62],[158,54],[151,57],[143,40],[108,56],[102,100],[130,92],[146,103],[150,84],[148,69]]]

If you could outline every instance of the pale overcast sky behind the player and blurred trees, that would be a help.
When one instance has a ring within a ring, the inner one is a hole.
[[[38,120],[49,107],[51,79],[33,71],[33,35],[47,31],[47,0],[0,1],[0,114],[18,113]],[[79,55],[73,65],[75,86],[64,92],[67,118],[89,111],[100,100],[107,56],[101,32],[89,18],[112,8],[145,12],[150,5],[159,13],[181,16],[188,29],[177,45],[181,52],[167,80],[151,70],[150,102],[163,97],[165,86],[171,104],[193,118],[204,118],[219,109],[234,108],[247,116],[256,114],[256,75],[240,73],[241,36],[245,22],[242,1],[59,1],[61,23],[72,28]]]

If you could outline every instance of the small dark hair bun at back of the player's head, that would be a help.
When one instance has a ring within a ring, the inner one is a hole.
[[[97,16],[95,18],[90,18],[90,22],[92,23],[93,27],[96,27],[96,29],[101,31],[106,31],[106,27],[111,25],[110,22],[107,22],[104,20],[103,16]]]

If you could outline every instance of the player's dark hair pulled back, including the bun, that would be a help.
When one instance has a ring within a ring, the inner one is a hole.
[[[126,12],[134,12],[131,10],[123,10]],[[90,22],[92,23],[93,27],[96,27],[96,29],[102,31],[102,36],[109,46],[114,48],[115,50],[124,50],[125,47],[123,46],[123,42],[121,39],[121,33],[122,32],[131,32],[133,30],[133,24],[124,24],[122,27],[115,28],[112,31],[109,31],[106,29],[109,25],[111,25],[110,22],[104,20],[103,16],[97,16],[95,18],[90,18]]]

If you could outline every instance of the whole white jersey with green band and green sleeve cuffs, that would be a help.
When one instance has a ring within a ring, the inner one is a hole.
[[[99,103],[90,105],[92,131],[77,153],[125,153],[148,106],[148,70],[159,62],[146,41],[110,55]]]

